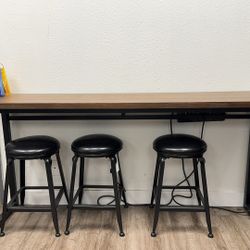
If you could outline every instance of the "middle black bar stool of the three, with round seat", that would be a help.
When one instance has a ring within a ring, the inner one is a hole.
[[[73,157],[73,166],[72,166],[72,175],[71,175],[71,184],[70,184],[70,196],[69,196],[69,207],[68,207],[68,216],[67,216],[67,225],[65,234],[70,233],[69,226],[71,220],[71,214],[73,208],[87,208],[87,209],[116,209],[117,222],[120,230],[120,236],[124,236],[123,227],[122,227],[122,217],[121,217],[121,208],[120,201],[121,196],[125,207],[128,207],[128,203],[125,196],[125,189],[123,185],[122,173],[120,168],[120,161],[118,152],[122,149],[122,141],[117,137],[104,134],[92,134],[82,136],[76,139],[72,145],[71,149],[74,152]],[[101,158],[106,157],[111,161],[111,174],[113,178],[113,185],[87,185],[84,184],[84,159],[85,158]],[[74,186],[75,186],[75,176],[77,161],[80,158],[80,176],[79,176],[79,187],[74,195]],[[117,176],[118,174],[118,176]],[[119,180],[119,181],[118,181]],[[114,189],[114,200],[115,206],[113,205],[84,205],[82,202],[82,195],[84,188],[112,188]],[[78,205],[75,205],[75,202],[78,198]]]

